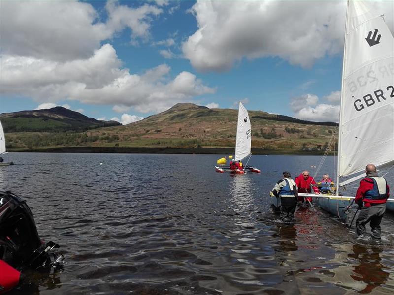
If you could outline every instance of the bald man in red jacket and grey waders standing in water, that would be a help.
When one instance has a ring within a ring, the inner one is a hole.
[[[360,210],[356,219],[356,232],[359,236],[365,235],[365,225],[369,222],[372,238],[380,239],[380,223],[386,212],[390,187],[385,178],[377,175],[375,165],[366,165],[365,173],[366,177],[361,179],[354,199]]]

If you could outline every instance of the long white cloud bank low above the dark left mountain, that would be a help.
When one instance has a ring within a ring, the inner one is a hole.
[[[160,112],[194,96],[211,94],[194,74],[181,72],[171,80],[171,68],[162,64],[142,75],[120,68],[115,49],[104,44],[87,59],[48,61],[33,57],[0,56],[0,94],[32,97],[37,102],[78,100],[86,104],[134,107]]]

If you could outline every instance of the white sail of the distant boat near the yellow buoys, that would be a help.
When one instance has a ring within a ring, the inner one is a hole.
[[[252,131],[248,111],[239,103],[237,135],[235,141],[235,161],[240,161],[250,154]]]

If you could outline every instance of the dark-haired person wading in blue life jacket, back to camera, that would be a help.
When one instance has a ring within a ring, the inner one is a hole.
[[[271,191],[275,197],[280,198],[280,219],[284,222],[293,220],[297,207],[297,186],[290,177],[290,172],[283,172],[283,179],[279,180]]]

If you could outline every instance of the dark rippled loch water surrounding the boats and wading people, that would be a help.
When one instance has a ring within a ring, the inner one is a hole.
[[[313,176],[321,157],[256,155],[261,174],[232,175],[215,172],[222,156],[8,153],[0,190],[26,200],[66,258],[9,294],[394,293],[394,213],[380,243],[310,207],[280,224],[269,191],[285,170]],[[328,157],[316,179],[334,171]],[[385,177],[394,191],[394,173]]]

